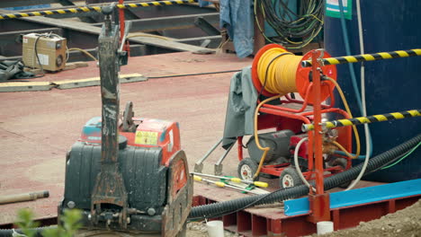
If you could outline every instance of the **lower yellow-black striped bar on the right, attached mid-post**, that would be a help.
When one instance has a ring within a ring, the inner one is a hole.
[[[373,122],[382,122],[382,121],[389,121],[389,120],[402,119],[402,118],[412,118],[412,117],[418,117],[418,116],[421,116],[421,110],[406,110],[406,111],[401,111],[401,112],[372,115],[368,117],[338,119],[338,120],[333,120],[333,121],[327,121],[327,122],[321,123],[320,125],[326,128],[345,127],[345,126],[353,126],[353,125],[373,123]],[[314,125],[312,124],[304,124],[302,126],[302,130],[304,132],[307,132],[313,129],[314,129]]]

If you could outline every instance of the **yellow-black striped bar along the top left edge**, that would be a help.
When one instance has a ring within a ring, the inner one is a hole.
[[[146,3],[130,3],[130,4],[116,4],[119,9],[133,8],[133,7],[148,7],[158,5],[172,5],[172,4],[193,4],[198,0],[169,0],[169,1],[154,1]],[[34,11],[28,13],[7,13],[0,14],[0,20],[16,19],[30,16],[43,16],[52,14],[68,14],[68,13],[88,13],[88,12],[101,12],[101,6],[78,6],[67,9],[49,10],[49,11]]]

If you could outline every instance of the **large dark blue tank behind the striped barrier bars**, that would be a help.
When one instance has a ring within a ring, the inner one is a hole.
[[[351,20],[345,20],[351,55],[360,54],[356,4]],[[421,7],[418,0],[361,0],[365,53],[420,48]],[[345,39],[340,19],[325,18],[325,48],[333,57],[345,56]],[[357,82],[360,65],[354,64]],[[367,114],[418,108],[420,103],[421,58],[398,58],[365,63]],[[354,116],[361,116],[351,83],[348,65],[338,65],[338,82],[345,91]],[[337,98],[338,105],[340,99]],[[421,131],[420,118],[370,125],[373,155],[381,154]],[[359,127],[364,154],[363,127]],[[376,171],[365,179],[393,182],[421,178],[421,149],[387,170]],[[358,161],[360,162],[360,161]]]

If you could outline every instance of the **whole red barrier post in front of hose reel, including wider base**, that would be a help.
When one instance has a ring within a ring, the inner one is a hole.
[[[318,223],[321,221],[330,220],[330,201],[329,194],[325,193],[324,181],[323,181],[323,137],[322,137],[322,127],[320,126],[321,122],[321,82],[319,70],[321,68],[318,57],[320,57],[320,51],[313,50],[311,52],[311,64],[312,64],[312,91],[313,91],[313,123],[314,123],[314,133],[313,133],[313,153],[314,153],[314,167],[316,174],[316,194],[313,194],[310,190],[309,193],[309,206],[311,214],[309,215],[309,221],[312,223]],[[310,134],[309,134],[310,135]],[[311,145],[310,145],[311,146]],[[311,159],[309,157],[309,159]]]

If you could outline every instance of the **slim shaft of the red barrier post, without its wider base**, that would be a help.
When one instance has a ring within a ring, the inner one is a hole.
[[[314,50],[312,52],[312,71],[313,71],[313,90],[314,90],[314,154],[315,154],[315,168],[316,168],[316,194],[320,195],[325,192],[323,187],[323,151],[322,151],[322,129],[320,126],[321,122],[321,83],[320,74],[318,69],[320,67],[318,63],[318,57],[320,51]]]

